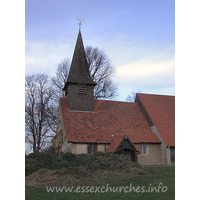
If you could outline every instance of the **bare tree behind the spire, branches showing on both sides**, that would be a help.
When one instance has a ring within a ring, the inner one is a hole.
[[[116,70],[107,54],[97,47],[86,46],[85,54],[91,78],[97,83],[94,88],[94,99],[111,99],[117,95],[117,85],[112,81]],[[51,78],[56,96],[64,97],[62,88],[67,81],[70,70],[69,59],[64,59],[56,68],[56,74]]]

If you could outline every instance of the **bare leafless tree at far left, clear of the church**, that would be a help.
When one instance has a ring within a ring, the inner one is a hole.
[[[39,152],[52,137],[49,105],[53,91],[46,74],[25,77],[25,140]]]

